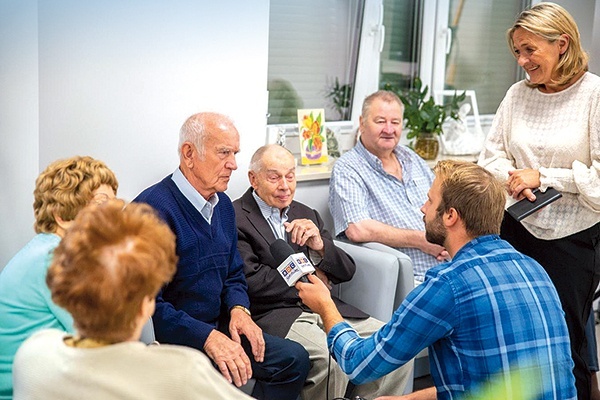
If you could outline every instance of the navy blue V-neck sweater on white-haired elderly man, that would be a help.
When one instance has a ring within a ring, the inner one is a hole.
[[[134,199],[154,207],[177,236],[177,272],[156,298],[159,342],[202,350],[222,313],[238,304],[250,307],[233,206],[226,194],[218,196],[210,225],[171,175]]]

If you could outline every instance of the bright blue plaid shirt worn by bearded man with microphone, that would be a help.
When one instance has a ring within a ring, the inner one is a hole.
[[[576,397],[558,294],[536,261],[496,235],[472,240],[453,261],[429,270],[371,337],[360,338],[341,322],[327,342],[356,384],[389,373],[429,346],[438,399],[486,397],[481,384],[495,379],[509,398],[523,398],[516,394],[528,390],[537,399]],[[522,385],[515,374],[524,377]]]

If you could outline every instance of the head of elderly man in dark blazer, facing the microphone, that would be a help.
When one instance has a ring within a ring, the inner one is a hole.
[[[250,160],[248,178],[265,203],[283,209],[290,205],[296,192],[296,159],[278,144],[262,146]]]

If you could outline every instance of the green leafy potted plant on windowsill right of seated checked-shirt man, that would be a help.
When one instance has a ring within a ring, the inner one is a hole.
[[[411,140],[410,146],[424,159],[433,160],[439,151],[437,135],[443,133],[442,124],[448,118],[459,118],[458,109],[466,93],[455,94],[448,104],[436,104],[433,97],[427,98],[429,88],[422,85],[421,79],[415,78],[412,89],[399,91],[391,84],[385,84],[384,89],[396,92],[404,104],[406,138]]]

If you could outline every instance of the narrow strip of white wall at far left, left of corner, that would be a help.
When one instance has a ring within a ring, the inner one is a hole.
[[[37,38],[37,2],[0,0],[0,269],[33,232]]]

